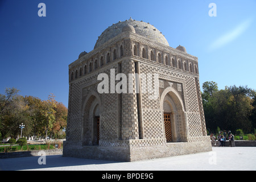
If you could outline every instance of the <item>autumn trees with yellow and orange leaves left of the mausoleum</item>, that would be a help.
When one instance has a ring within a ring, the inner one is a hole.
[[[55,100],[50,94],[48,100],[38,97],[19,96],[19,90],[6,88],[5,95],[0,94],[0,133],[2,138],[16,138],[20,135],[19,125],[25,128],[22,135],[26,137],[47,138],[64,135],[67,127],[67,107]]]

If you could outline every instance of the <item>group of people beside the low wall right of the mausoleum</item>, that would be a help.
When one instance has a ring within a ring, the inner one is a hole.
[[[210,134],[210,139],[212,140],[212,144],[214,147],[216,147],[216,137],[212,134]],[[234,135],[231,133],[231,131],[228,131],[228,135],[226,134],[226,131],[224,130],[223,134],[222,131],[217,136],[219,147],[224,147],[226,140],[229,140],[229,147],[235,147],[234,143]]]

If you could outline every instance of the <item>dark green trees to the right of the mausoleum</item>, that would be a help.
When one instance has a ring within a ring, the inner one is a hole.
[[[216,82],[204,82],[203,105],[208,130],[221,130],[245,133],[255,128],[255,91],[247,86],[226,86],[218,90]]]

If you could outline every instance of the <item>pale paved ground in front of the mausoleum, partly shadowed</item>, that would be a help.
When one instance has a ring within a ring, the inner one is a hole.
[[[46,171],[173,171],[173,170],[256,170],[256,147],[214,147],[212,152],[174,156],[139,162],[111,162],[67,158],[61,155],[0,159],[0,170]],[[39,162],[46,164],[39,164]]]

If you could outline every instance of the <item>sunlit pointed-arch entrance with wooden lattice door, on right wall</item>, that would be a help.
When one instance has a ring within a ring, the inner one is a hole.
[[[187,142],[187,124],[183,101],[172,87],[168,87],[160,97],[163,110],[163,126],[166,142]]]

